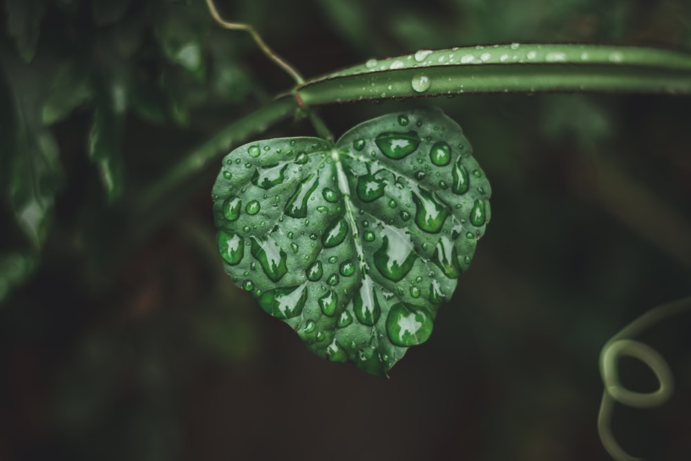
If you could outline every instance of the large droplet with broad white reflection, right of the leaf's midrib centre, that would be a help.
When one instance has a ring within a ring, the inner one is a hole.
[[[403,279],[415,264],[415,253],[410,237],[403,229],[384,227],[382,243],[374,254],[375,267],[391,281]]]

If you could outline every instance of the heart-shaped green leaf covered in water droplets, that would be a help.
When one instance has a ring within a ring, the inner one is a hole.
[[[386,375],[430,336],[489,222],[490,186],[438,109],[359,124],[333,144],[238,147],[214,185],[233,281],[307,347]]]

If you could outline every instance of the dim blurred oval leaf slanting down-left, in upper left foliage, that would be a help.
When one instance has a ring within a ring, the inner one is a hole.
[[[41,110],[41,120],[47,125],[59,122],[92,95],[87,66],[69,62],[55,75],[48,99]]]

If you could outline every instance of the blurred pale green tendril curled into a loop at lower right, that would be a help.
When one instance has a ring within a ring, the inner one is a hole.
[[[691,297],[654,308],[609,339],[600,352],[600,375],[603,377],[605,391],[598,413],[598,433],[607,453],[617,461],[636,461],[641,458],[626,453],[612,434],[612,412],[615,402],[634,408],[652,408],[667,402],[674,392],[674,377],[667,361],[650,346],[631,338],[654,323],[688,308],[691,308]],[[659,387],[650,393],[634,392],[625,388],[619,382],[616,368],[618,358],[622,355],[634,357],[650,367],[659,382]]]

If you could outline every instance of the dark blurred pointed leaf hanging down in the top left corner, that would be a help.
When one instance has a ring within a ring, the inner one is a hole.
[[[21,59],[30,62],[39,43],[45,0],[6,0],[8,35],[15,39]]]

